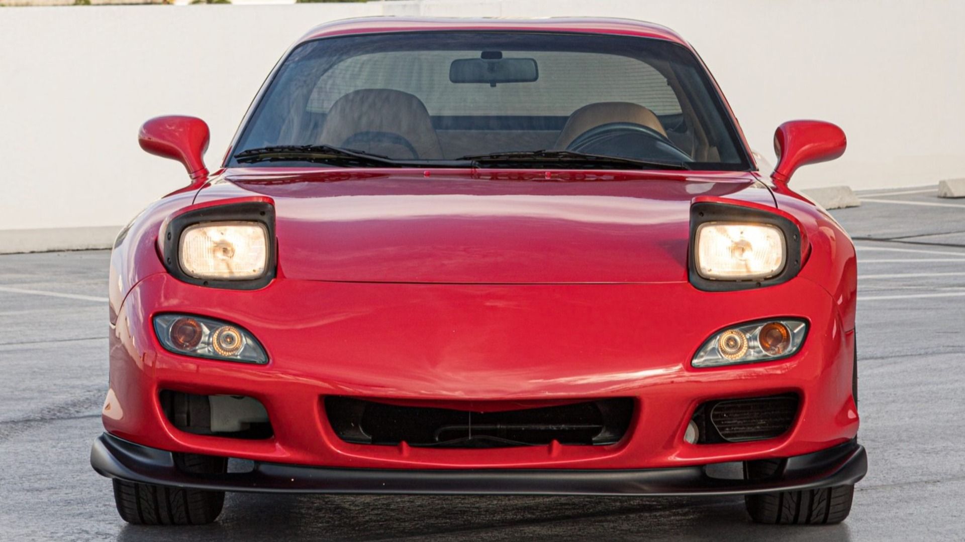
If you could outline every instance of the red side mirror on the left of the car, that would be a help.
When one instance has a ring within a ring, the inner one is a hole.
[[[205,151],[210,139],[207,123],[196,117],[155,117],[141,125],[141,149],[178,160],[192,179],[207,176]]]

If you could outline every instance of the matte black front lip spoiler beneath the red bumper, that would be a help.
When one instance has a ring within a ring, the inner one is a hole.
[[[211,491],[395,495],[747,495],[854,484],[868,472],[855,440],[787,458],[766,480],[708,476],[703,467],[648,470],[382,470],[255,463],[248,473],[191,474],[174,454],[104,433],[91,449],[101,475]]]

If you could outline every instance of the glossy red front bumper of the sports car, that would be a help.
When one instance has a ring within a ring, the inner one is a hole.
[[[252,366],[165,351],[159,312],[234,322],[270,362]],[[791,358],[695,369],[690,359],[722,327],[801,317],[809,338]],[[795,279],[740,292],[653,285],[385,285],[277,280],[261,290],[185,285],[157,274],[136,285],[111,337],[109,433],[145,447],[344,469],[676,469],[808,454],[857,434],[853,332],[819,285]],[[162,390],[236,394],[262,402],[274,435],[244,440],[180,431]],[[781,437],[691,445],[687,422],[708,400],[796,393]],[[352,444],[332,430],[324,397],[554,402],[630,397],[627,435],[606,446],[455,449]]]

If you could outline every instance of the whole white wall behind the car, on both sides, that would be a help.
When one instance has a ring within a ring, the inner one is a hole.
[[[291,41],[373,14],[600,15],[691,41],[752,147],[783,121],[838,122],[849,148],[799,187],[909,186],[965,176],[965,2],[954,0],[415,0],[290,6],[9,8],[0,12],[0,230],[124,224],[185,183],[141,151],[141,122],[211,127],[216,166]]]

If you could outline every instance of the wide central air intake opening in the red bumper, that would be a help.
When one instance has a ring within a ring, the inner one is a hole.
[[[325,412],[345,442],[411,447],[610,445],[623,437],[633,399],[584,401],[477,412],[325,397]]]

